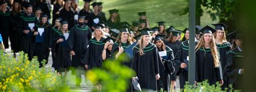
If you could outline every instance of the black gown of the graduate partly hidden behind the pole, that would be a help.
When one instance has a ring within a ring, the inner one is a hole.
[[[198,41],[196,41],[196,44],[197,43]],[[188,46],[188,40],[181,42],[174,58],[174,67],[176,69],[174,74],[179,75],[180,88],[184,88],[186,81],[188,81],[188,71],[184,68],[180,68],[181,63],[184,63],[184,60],[187,60]]]

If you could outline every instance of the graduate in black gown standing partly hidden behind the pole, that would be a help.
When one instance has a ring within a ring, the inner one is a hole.
[[[189,30],[186,30],[185,37],[189,36]],[[184,38],[185,38],[184,37]],[[196,38],[195,38],[196,39]],[[196,40],[196,44],[198,41]],[[181,42],[177,51],[177,54],[174,58],[174,67],[176,67],[176,75],[179,76],[179,85],[180,89],[184,89],[184,86],[186,85],[186,81],[188,81],[188,46],[189,46],[189,40],[188,38],[186,41]]]

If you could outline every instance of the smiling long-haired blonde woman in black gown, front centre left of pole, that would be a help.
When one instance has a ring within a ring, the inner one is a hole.
[[[140,41],[133,49],[132,68],[138,76],[140,88],[157,90],[159,71],[164,70],[156,45],[150,43],[150,28],[140,30]],[[160,63],[160,64],[159,64]],[[160,65],[160,66],[159,66]],[[136,80],[134,76],[133,81]]]

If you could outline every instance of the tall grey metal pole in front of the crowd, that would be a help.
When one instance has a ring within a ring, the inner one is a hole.
[[[196,26],[196,0],[189,1],[189,30],[190,30],[190,37],[189,37],[189,51],[188,56],[189,64],[188,64],[188,83],[189,85],[194,84],[195,79],[195,26]]]

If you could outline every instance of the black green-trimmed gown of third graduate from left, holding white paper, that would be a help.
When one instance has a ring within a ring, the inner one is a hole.
[[[31,16],[24,14],[24,16],[21,16],[21,18],[22,18],[21,48],[22,48],[22,51],[24,51],[24,53],[28,53],[29,60],[31,60],[33,56],[33,50],[35,49],[35,43],[32,42],[33,33],[31,32],[29,24],[33,23],[36,25],[36,16],[33,14],[31,14]],[[25,34],[23,33],[23,30],[30,30],[30,32],[28,34]]]

